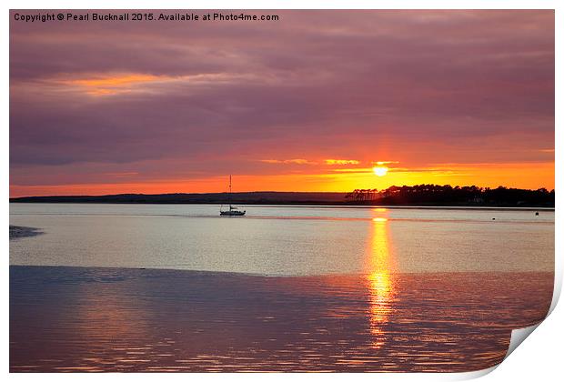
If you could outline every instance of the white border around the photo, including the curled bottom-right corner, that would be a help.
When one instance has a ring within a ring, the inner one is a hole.
[[[2,218],[5,221],[5,227],[9,225],[9,140],[8,140],[8,124],[9,124],[9,55],[8,55],[8,45],[9,45],[9,22],[8,22],[8,9],[42,9],[42,8],[53,8],[53,9],[556,9],[556,67],[564,67],[562,60],[562,31],[564,28],[564,2],[561,0],[397,0],[397,1],[369,1],[369,0],[348,0],[348,1],[307,1],[307,0],[274,0],[274,1],[257,1],[257,0],[209,0],[209,1],[179,1],[179,0],[160,0],[160,1],[109,1],[109,0],[53,0],[53,1],[14,1],[7,0],[3,2],[3,7],[5,12],[1,18],[2,23],[2,84],[4,85],[4,94],[2,98],[3,114],[2,120],[4,123],[1,127],[2,134],[2,145],[4,146],[2,150],[2,156],[4,165],[2,166],[2,175],[5,179],[5,186],[2,188],[2,195],[5,203],[2,205],[3,214]],[[560,45],[560,46],[559,46]],[[562,75],[558,72],[556,74],[556,105],[559,105],[558,100],[561,99],[562,92]],[[564,189],[562,186],[563,182],[563,170],[562,168],[562,156],[560,149],[562,148],[562,112],[559,108],[556,109],[556,183],[555,189],[556,193],[556,286],[557,291],[555,293],[556,302],[557,296],[559,296],[559,291],[562,284],[562,233],[563,228],[560,223],[560,207],[563,206],[561,191]],[[5,266],[2,267],[2,280],[3,280],[3,297],[4,297],[4,307],[5,314],[2,316],[2,354],[1,359],[4,361],[4,371],[8,373],[8,359],[9,359],[9,320],[7,315],[8,310],[8,236],[5,235],[3,238],[3,256],[5,258]],[[564,320],[562,319],[564,314],[562,313],[562,307],[556,307],[552,314],[547,318],[546,322],[542,323],[537,330],[531,335],[531,337],[526,341],[525,346],[519,347],[515,353],[513,353],[507,360],[505,360],[495,372],[488,374],[482,380],[494,381],[494,380],[517,380],[517,381],[529,381],[533,378],[540,380],[551,380],[553,377],[560,375],[561,363],[560,357],[560,347],[563,339],[562,329],[560,323]],[[491,370],[488,370],[491,371]],[[487,371],[485,371],[487,372]],[[307,376],[303,374],[274,374],[268,375],[269,379],[282,378],[292,378],[292,379],[302,379],[302,378],[323,378],[331,380],[344,381],[350,377],[355,379],[366,379],[373,380],[378,379],[392,379],[392,380],[452,380],[452,379],[466,379],[468,377],[479,377],[485,372],[478,373],[461,373],[461,374],[335,374],[335,375],[319,375],[319,374],[309,374]],[[22,380],[30,378],[40,377],[42,380],[73,380],[76,377],[81,377],[85,379],[96,379],[99,380],[101,377],[109,378],[111,380],[152,380],[156,377],[153,374],[104,374],[103,376],[97,375],[30,375],[30,374],[11,374],[10,378]],[[166,374],[159,375],[158,377],[166,377],[167,379],[185,379],[186,377],[197,377],[201,380],[214,380],[217,377],[227,378],[232,381],[238,380],[248,380],[258,378],[265,378],[265,375],[210,375],[210,374]]]

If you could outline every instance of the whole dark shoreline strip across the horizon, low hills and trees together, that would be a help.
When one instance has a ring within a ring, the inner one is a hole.
[[[384,190],[337,192],[240,192],[206,194],[118,194],[105,196],[25,196],[13,203],[345,205],[345,206],[554,206],[554,190],[546,188],[482,188],[478,186],[391,186]]]

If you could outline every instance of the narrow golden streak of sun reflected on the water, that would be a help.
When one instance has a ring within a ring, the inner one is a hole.
[[[388,323],[392,307],[393,283],[390,276],[390,243],[388,238],[388,218],[385,208],[375,210],[378,216],[372,219],[369,248],[369,319],[372,347],[384,345],[386,336],[383,328]]]

